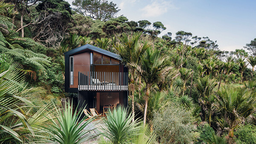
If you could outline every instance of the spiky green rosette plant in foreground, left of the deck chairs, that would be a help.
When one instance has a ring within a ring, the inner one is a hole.
[[[90,131],[94,129],[87,129],[88,124],[92,122],[95,118],[90,118],[89,120],[82,123],[87,116],[81,118],[83,109],[77,112],[77,108],[73,113],[73,104],[68,101],[65,104],[65,108],[55,107],[57,114],[54,116],[46,116],[52,124],[43,128],[46,133],[50,135],[49,142],[56,144],[82,144],[85,141],[90,140],[92,135]],[[80,121],[81,118],[81,121]]]

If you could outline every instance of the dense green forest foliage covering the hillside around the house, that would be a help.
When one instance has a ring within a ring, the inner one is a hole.
[[[217,41],[191,32],[160,37],[163,23],[117,17],[113,2],[73,5],[0,2],[0,143],[54,141],[58,124],[76,125],[76,116],[64,118],[70,109],[59,109],[61,98],[77,96],[64,92],[63,53],[85,44],[120,55],[129,69],[131,109],[108,115],[105,135],[113,137],[99,143],[140,143],[140,132],[145,143],[256,143],[256,38],[244,49],[221,51]],[[117,135],[116,121],[126,124],[127,137]]]

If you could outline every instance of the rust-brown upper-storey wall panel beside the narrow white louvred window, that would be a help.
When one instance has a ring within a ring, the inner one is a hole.
[[[70,88],[78,88],[78,72],[90,72],[90,52],[74,55],[74,85]]]

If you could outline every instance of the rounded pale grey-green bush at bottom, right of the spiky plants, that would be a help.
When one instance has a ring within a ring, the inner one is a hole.
[[[162,144],[191,143],[196,135],[190,111],[170,103],[154,113],[153,128]]]

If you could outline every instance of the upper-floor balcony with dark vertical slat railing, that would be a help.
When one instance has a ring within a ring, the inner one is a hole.
[[[128,72],[78,72],[79,91],[128,91]]]

